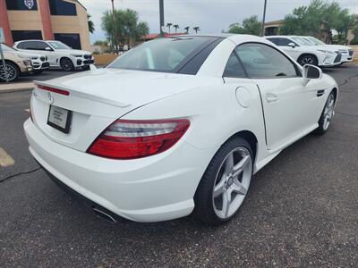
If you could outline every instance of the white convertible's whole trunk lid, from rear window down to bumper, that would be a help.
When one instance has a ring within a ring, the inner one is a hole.
[[[85,71],[46,82],[37,81],[31,97],[31,114],[35,125],[48,138],[86,151],[108,125],[125,113],[213,80],[150,71]],[[39,88],[41,86],[45,89]],[[53,92],[51,88],[64,90],[68,96]],[[71,111],[69,133],[47,124],[51,105]]]

